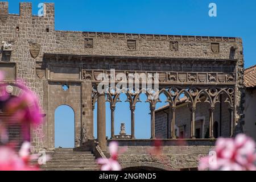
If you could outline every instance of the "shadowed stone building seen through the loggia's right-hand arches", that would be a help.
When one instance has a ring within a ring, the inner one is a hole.
[[[205,98],[204,98],[205,99]],[[226,100],[226,98],[221,98]],[[195,113],[195,137],[209,138],[210,125],[209,103],[197,104]],[[185,100],[176,106],[175,135],[177,138],[190,138],[191,136],[191,111],[189,103]],[[213,137],[230,137],[230,113],[228,104],[221,102],[213,111]],[[155,110],[156,138],[171,138],[172,107],[165,105]]]

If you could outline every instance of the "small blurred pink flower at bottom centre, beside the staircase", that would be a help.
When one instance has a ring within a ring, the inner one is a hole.
[[[118,151],[118,148],[119,147],[117,142],[110,142],[109,144],[110,158],[109,159],[100,158],[97,160],[97,163],[101,165],[101,171],[121,171],[122,169],[121,165],[118,163],[118,155],[120,154],[120,151]]]

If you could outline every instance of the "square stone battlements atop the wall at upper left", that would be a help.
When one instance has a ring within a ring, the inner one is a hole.
[[[44,3],[43,8],[43,17],[53,17],[55,6],[54,3]],[[9,3],[0,1],[0,19],[6,20],[9,16]],[[19,3],[19,16],[20,17],[32,17],[32,3],[30,2],[20,2]]]

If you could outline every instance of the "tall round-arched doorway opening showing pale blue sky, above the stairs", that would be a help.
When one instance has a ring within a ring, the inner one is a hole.
[[[72,107],[61,105],[55,110],[55,148],[75,147],[75,113]]]

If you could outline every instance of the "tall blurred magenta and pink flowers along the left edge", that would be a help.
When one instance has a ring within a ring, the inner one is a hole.
[[[7,122],[0,121],[0,142],[5,143],[5,146],[0,146],[0,171],[39,170],[37,165],[32,166],[30,164],[30,160],[37,159],[38,156],[30,155],[29,142],[30,126],[36,127],[43,122],[38,100],[36,95],[21,81],[17,81],[15,86],[23,90],[22,94],[11,97],[7,92],[6,84],[3,82],[3,79],[3,73],[0,72],[0,101],[4,103],[2,109],[5,113],[8,113],[10,117]],[[12,125],[21,126],[23,133],[24,142],[19,150],[19,154],[16,154],[14,144],[9,142],[7,127]]]

